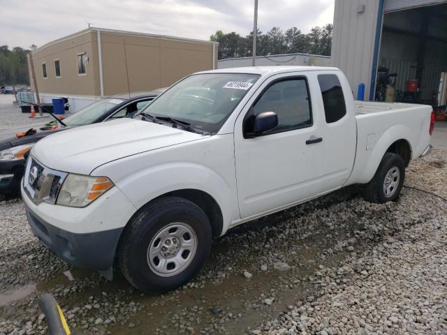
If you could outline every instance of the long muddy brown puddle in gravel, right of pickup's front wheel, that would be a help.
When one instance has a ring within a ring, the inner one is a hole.
[[[163,330],[163,334],[174,335],[179,332],[179,318],[183,318],[185,326],[186,322],[190,322],[196,334],[199,334],[206,332],[205,327],[212,329],[214,323],[219,324],[222,318],[228,318],[228,314],[232,313],[233,318],[223,322],[226,334],[242,334],[247,331],[247,327],[256,327],[265,318],[273,319],[278,313],[286,311],[288,305],[312,295],[314,285],[302,282],[301,279],[314,274],[318,265],[333,267],[346,256],[339,253],[321,260],[318,254],[323,250],[323,246],[316,247],[312,243],[309,247],[309,241],[298,246],[296,260],[305,263],[312,261],[312,265],[306,264],[292,272],[271,270],[255,273],[249,281],[243,276],[232,274],[219,284],[207,282],[205,288],[180,290],[166,295],[135,295],[133,301],[145,304],[145,308],[129,320],[136,327],[129,328],[127,322],[126,325],[112,325],[108,329],[112,334],[135,335],[152,334],[158,328]],[[272,297],[273,288],[276,289],[275,302],[272,306],[266,306],[261,295]],[[221,312],[212,313],[214,307],[219,307]],[[238,314],[242,316],[234,318]],[[197,318],[200,323],[196,321]]]

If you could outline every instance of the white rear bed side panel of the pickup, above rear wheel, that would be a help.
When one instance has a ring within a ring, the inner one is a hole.
[[[418,158],[430,143],[431,113],[431,106],[414,105],[357,115],[356,161],[347,184],[369,182],[386,150],[397,140],[409,143],[411,160]]]

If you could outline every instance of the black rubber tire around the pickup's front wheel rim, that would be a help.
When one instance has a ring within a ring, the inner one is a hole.
[[[196,251],[181,272],[159,276],[149,266],[148,248],[156,234],[172,223],[186,223],[192,228],[196,234]],[[211,245],[211,224],[200,207],[184,198],[160,198],[143,207],[126,226],[118,247],[119,267],[138,290],[173,290],[196,276],[210,255]]]

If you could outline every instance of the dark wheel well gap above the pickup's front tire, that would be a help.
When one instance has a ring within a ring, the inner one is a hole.
[[[220,236],[223,229],[222,211],[219,204],[217,204],[216,200],[214,200],[211,195],[203,191],[187,188],[160,195],[156,199],[166,196],[184,198],[198,205],[198,207],[205,211],[205,214],[207,214],[207,217],[210,220],[212,236]]]

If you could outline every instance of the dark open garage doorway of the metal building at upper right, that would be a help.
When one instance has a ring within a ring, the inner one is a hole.
[[[386,4],[391,2],[412,8],[383,15],[374,100],[444,104],[439,89],[447,72],[447,1]]]

